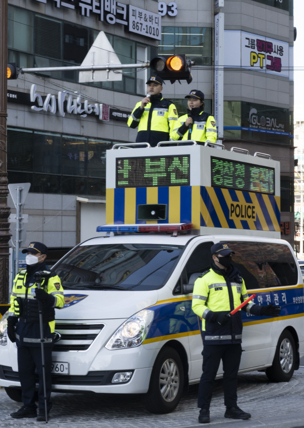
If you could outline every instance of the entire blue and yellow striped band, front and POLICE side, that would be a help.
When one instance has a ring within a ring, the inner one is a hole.
[[[140,204],[167,204],[167,220],[138,221]],[[280,198],[204,186],[139,187],[106,190],[106,224],[192,223],[280,231]]]

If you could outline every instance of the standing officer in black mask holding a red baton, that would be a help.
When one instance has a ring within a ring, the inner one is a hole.
[[[250,413],[237,405],[237,374],[242,353],[241,310],[230,312],[248,298],[245,282],[232,264],[234,251],[229,244],[218,242],[211,246],[211,268],[194,284],[192,309],[202,319],[203,374],[200,380],[198,407],[200,423],[210,422],[209,407],[214,379],[220,361],[223,363],[223,390],[226,411],[232,419],[249,419]],[[242,310],[253,315],[277,316],[280,306],[273,303],[259,306],[247,303]]]

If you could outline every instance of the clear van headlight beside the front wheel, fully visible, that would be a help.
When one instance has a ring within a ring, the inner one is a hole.
[[[106,349],[134,348],[144,341],[151,323],[154,311],[144,309],[127,319],[113,334],[105,345]]]

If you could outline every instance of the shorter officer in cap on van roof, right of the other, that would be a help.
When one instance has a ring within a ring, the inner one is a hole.
[[[198,144],[203,144],[207,140],[216,142],[215,119],[204,112],[203,92],[193,89],[185,98],[188,98],[187,114],[178,118],[173,138],[175,140],[194,139]]]

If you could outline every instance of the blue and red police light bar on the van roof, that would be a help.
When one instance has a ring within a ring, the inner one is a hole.
[[[190,230],[192,223],[140,224],[140,225],[104,225],[97,226],[97,232],[175,232]]]

